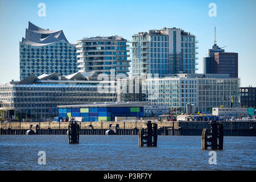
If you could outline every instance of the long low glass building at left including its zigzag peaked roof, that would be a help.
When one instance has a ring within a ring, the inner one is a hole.
[[[30,75],[22,81],[0,85],[2,117],[47,121],[57,116],[57,105],[115,102],[115,93],[97,92],[96,76],[94,72],[67,76],[51,73],[38,77]]]

